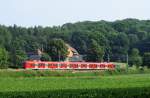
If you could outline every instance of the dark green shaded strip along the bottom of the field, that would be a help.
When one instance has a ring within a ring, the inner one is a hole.
[[[149,98],[150,88],[0,92],[0,98]]]

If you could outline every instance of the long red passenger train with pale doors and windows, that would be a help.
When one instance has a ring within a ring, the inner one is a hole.
[[[99,70],[114,70],[113,63],[94,63],[94,62],[50,62],[50,61],[26,61],[24,62],[25,69],[99,69]]]

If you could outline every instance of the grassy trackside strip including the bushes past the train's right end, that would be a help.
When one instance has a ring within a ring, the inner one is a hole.
[[[122,68],[117,65],[115,70],[105,71],[73,71],[73,70],[23,70],[23,69],[3,69],[0,70],[0,78],[35,78],[35,77],[102,77],[102,76],[116,76],[116,75],[131,75],[131,74],[149,74],[150,69],[145,67],[136,68],[129,67]]]

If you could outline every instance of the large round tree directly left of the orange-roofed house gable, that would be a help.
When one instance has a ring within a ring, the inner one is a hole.
[[[68,55],[68,47],[61,39],[52,39],[47,44],[46,52],[52,58],[53,61],[63,61]]]

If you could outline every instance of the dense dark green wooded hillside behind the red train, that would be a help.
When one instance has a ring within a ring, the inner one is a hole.
[[[0,25],[0,66],[18,67],[28,52],[41,49],[43,60],[64,60],[65,43],[86,61],[150,66],[150,20],[84,21],[54,27]],[[58,57],[59,56],[59,57]]]

